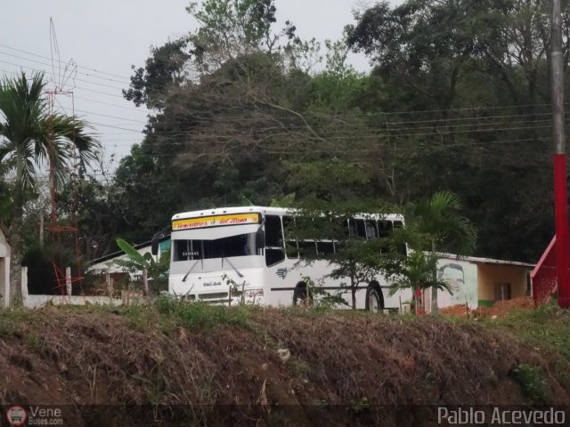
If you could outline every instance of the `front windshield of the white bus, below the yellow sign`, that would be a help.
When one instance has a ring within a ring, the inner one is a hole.
[[[208,260],[256,254],[256,233],[205,239],[173,240],[172,261]]]

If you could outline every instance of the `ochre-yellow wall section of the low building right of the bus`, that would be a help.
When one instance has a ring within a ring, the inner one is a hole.
[[[517,265],[477,264],[477,287],[479,305],[492,305],[495,302],[495,288],[500,284],[510,285],[510,297],[526,294],[526,275],[529,269]]]

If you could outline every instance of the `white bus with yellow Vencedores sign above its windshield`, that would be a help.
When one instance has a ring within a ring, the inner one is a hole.
[[[326,278],[331,270],[329,261],[299,262],[299,246],[313,246],[314,254],[322,254],[335,250],[334,241],[295,240],[293,246],[289,242],[286,247],[284,224],[287,227],[292,213],[279,207],[241,206],[175,214],[169,294],[230,305],[254,302],[287,306],[305,298],[304,278],[325,278],[322,288],[340,294],[349,305],[349,280]],[[356,216],[346,222],[347,232],[362,238],[387,236],[397,227],[403,227],[399,214]],[[400,310],[411,292],[390,296],[388,287],[383,277],[360,284],[357,308]]]

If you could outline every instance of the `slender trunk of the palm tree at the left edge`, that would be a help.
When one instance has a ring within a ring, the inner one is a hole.
[[[22,189],[22,158],[20,152],[16,155],[16,181],[13,192],[14,207],[10,223],[10,305],[21,307],[24,304],[21,294],[21,261],[24,257],[22,242],[23,189]]]

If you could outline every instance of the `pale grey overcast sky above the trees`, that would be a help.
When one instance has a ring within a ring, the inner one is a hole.
[[[370,2],[373,4],[374,2]],[[145,109],[125,101],[131,66],[142,66],[151,45],[159,46],[196,28],[185,12],[187,0],[17,0],[4,2],[0,13],[0,75],[43,69],[73,92],[76,114],[94,125],[106,158],[115,164],[135,142],[142,141]],[[362,0],[276,0],[278,23],[291,20],[304,39],[338,39],[352,10]],[[61,60],[77,63],[77,76],[65,80],[63,69],[53,72],[50,18]],[[368,68],[362,56],[351,61]],[[13,77],[13,74],[9,74]],[[53,85],[52,85],[53,86]],[[71,110],[71,97],[58,95],[57,105]]]

